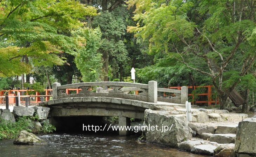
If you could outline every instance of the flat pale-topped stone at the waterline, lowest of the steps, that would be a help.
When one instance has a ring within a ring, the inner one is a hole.
[[[192,147],[191,152],[196,154],[213,155],[213,152],[216,148],[216,146],[211,144],[195,145]]]

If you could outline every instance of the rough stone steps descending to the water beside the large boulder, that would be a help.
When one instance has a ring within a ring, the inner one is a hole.
[[[222,150],[228,150],[229,156],[236,156],[234,150],[235,147],[235,138],[238,125],[222,125],[217,126],[217,128],[212,131],[212,133],[203,133],[209,132],[207,125],[204,124],[193,124],[190,123],[190,126],[201,126],[201,129],[195,129],[197,135],[200,134],[200,138],[193,138],[178,144],[180,150],[191,151],[196,154],[206,154],[214,156],[218,155]],[[206,127],[205,127],[206,126]],[[208,125],[209,128],[209,125]],[[225,152],[225,154],[227,154]]]

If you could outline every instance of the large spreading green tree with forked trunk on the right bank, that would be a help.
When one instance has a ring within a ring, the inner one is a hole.
[[[244,77],[252,78],[248,70],[256,58],[251,12],[255,3],[130,0],[128,4],[136,5],[134,19],[139,21],[128,30],[149,38],[149,53],[166,54],[210,77],[220,109]]]

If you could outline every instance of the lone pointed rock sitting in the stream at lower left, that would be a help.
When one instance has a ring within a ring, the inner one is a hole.
[[[38,136],[22,130],[18,137],[13,141],[13,144],[46,144],[45,140],[40,139]]]

